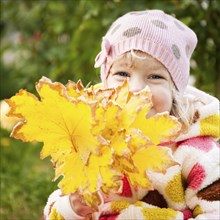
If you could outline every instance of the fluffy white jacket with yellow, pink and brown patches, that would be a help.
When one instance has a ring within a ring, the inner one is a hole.
[[[93,219],[220,219],[219,101],[193,87],[188,87],[186,94],[201,101],[196,104],[191,128],[176,139],[173,156],[177,165],[166,173],[146,171],[153,191],[132,188],[124,177],[121,191],[103,199]],[[73,212],[69,196],[62,196],[60,190],[49,197],[44,216],[51,220],[85,219]]]

